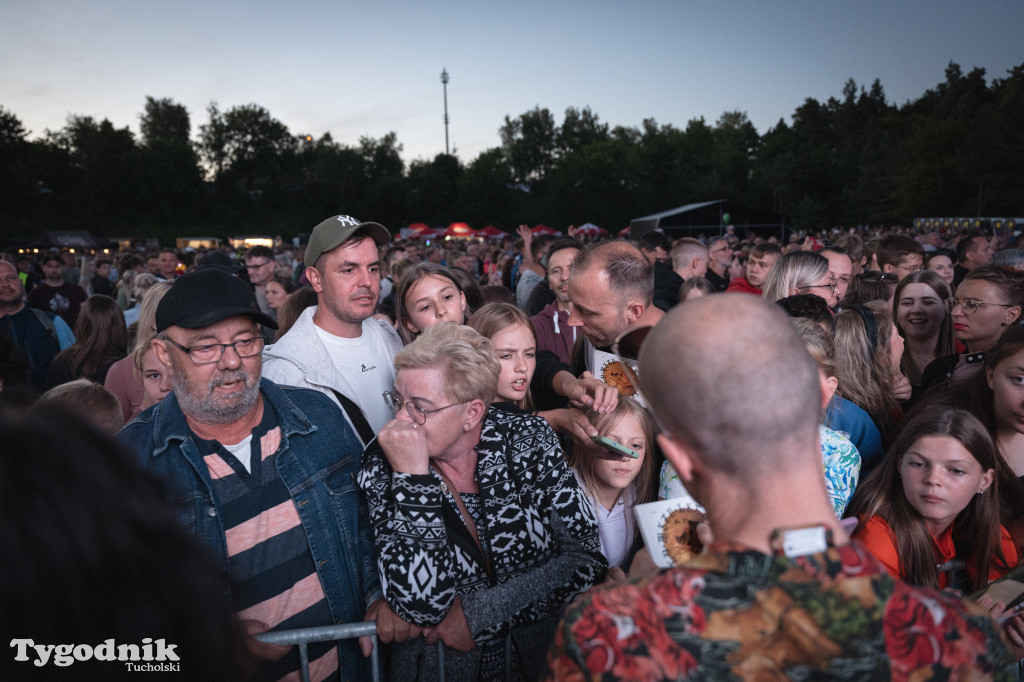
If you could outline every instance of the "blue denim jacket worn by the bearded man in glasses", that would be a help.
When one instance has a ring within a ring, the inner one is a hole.
[[[302,520],[331,612],[336,623],[357,623],[383,596],[366,501],[355,483],[359,440],[338,407],[316,391],[262,379],[260,392],[278,413],[278,473]],[[118,438],[170,481],[182,523],[227,572],[220,505],[174,393],[129,422]],[[229,595],[223,597],[230,603]],[[356,656],[341,657],[342,679],[356,679]]]

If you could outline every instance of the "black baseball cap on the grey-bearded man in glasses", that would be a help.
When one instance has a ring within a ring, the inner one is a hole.
[[[160,300],[157,331],[168,327],[203,329],[236,315],[249,315],[264,327],[278,329],[278,323],[259,309],[249,285],[219,267],[203,267],[175,280]]]

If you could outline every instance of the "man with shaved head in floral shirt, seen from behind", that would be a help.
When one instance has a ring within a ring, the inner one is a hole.
[[[729,293],[673,308],[640,387],[716,541],[569,608],[551,679],[948,679],[1024,653],[984,608],[896,581],[849,541],[817,442],[823,379],[781,310]]]

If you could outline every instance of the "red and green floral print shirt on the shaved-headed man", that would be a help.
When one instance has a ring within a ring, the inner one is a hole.
[[[859,543],[711,550],[569,608],[547,679],[1016,679],[984,609],[892,579]]]

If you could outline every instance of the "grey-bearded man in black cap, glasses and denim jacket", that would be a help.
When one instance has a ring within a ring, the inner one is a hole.
[[[118,437],[172,486],[182,523],[230,574],[223,598],[248,633],[380,615],[387,641],[394,621],[353,483],[362,446],[329,398],[260,378],[260,325],[276,329],[228,272],[176,280],[153,341],[174,390]],[[286,647],[253,648],[265,658],[261,676],[298,670]],[[309,662],[314,679],[367,673],[354,642],[313,644]]]

